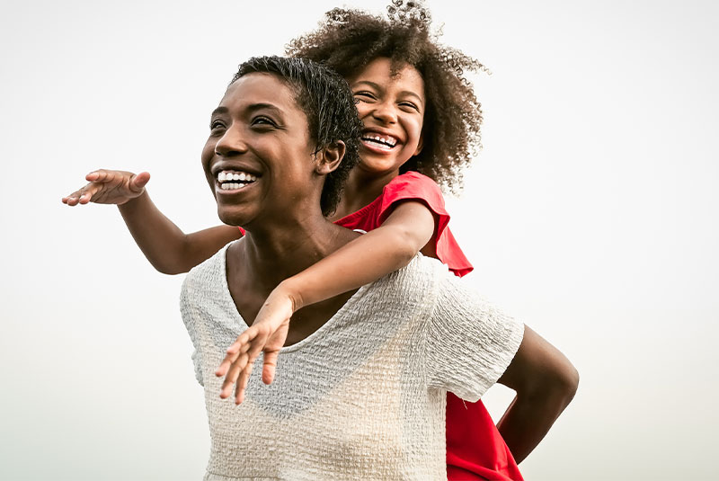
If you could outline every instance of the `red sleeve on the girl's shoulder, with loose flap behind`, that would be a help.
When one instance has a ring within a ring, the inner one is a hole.
[[[427,206],[437,218],[436,236],[431,239],[435,243],[437,256],[446,263],[449,270],[457,276],[463,276],[474,269],[469,263],[457,240],[447,227],[449,214],[444,208],[444,197],[439,185],[426,175],[408,172],[398,175],[385,186],[378,206],[377,220],[381,225],[392,213],[399,202],[417,200]]]

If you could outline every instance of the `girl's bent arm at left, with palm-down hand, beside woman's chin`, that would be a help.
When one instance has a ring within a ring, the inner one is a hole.
[[[237,227],[210,227],[185,234],[150,200],[145,185],[150,174],[98,170],[85,176],[89,183],[62,199],[68,206],[95,202],[116,204],[135,242],[159,272],[178,274],[215,254],[241,236]]]

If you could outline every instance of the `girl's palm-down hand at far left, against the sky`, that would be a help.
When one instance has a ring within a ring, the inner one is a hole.
[[[68,206],[87,202],[121,205],[145,192],[150,174],[141,172],[136,175],[120,170],[100,169],[85,175],[84,178],[89,183],[79,191],[63,197],[62,203]]]

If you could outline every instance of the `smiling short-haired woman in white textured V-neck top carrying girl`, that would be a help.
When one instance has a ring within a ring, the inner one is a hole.
[[[214,370],[244,319],[281,281],[359,236],[323,215],[338,198],[335,180],[356,161],[351,105],[324,67],[255,58],[213,113],[205,173],[219,217],[246,235],[194,268],[182,288],[209,413],[207,479],[440,479],[448,390],[475,401],[497,379],[518,396],[551,389],[549,379],[575,383],[550,344],[418,256],[297,311],[280,377],[263,386],[255,372],[238,407],[217,397]],[[322,129],[337,121],[353,129]],[[234,174],[249,181],[226,180]],[[568,401],[537,409],[561,412]]]

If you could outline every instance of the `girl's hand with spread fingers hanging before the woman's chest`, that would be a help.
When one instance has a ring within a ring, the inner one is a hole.
[[[264,352],[262,361],[262,382],[271,384],[275,377],[277,356],[287,340],[289,318],[297,309],[296,297],[282,284],[272,290],[257,313],[253,325],[237,337],[227,349],[227,355],[215,375],[225,376],[220,397],[226,399],[235,387],[235,404],[244,401],[244,389],[253,372],[253,364],[260,352]]]

